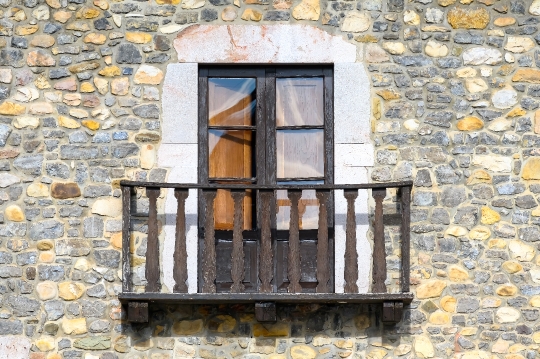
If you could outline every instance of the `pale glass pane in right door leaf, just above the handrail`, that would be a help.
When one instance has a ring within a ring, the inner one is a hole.
[[[278,130],[277,177],[324,176],[323,130]]]

